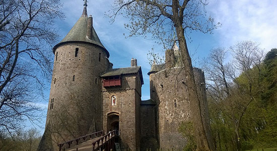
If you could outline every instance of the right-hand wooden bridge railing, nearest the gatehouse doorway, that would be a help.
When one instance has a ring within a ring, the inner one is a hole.
[[[112,149],[114,141],[115,141],[114,136],[117,136],[117,135],[119,135],[119,131],[113,130],[113,131],[108,132],[104,136],[94,140],[92,142],[92,150],[101,150],[100,148],[105,149],[105,150]]]

